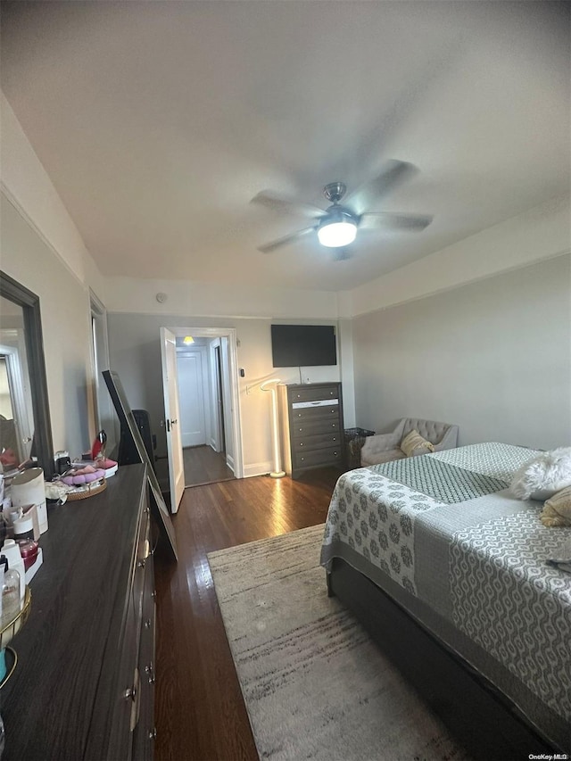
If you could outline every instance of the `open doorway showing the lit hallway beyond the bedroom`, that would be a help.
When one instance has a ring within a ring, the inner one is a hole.
[[[234,328],[170,328],[176,336],[185,487],[243,476]]]

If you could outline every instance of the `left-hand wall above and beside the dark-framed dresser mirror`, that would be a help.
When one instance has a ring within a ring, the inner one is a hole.
[[[0,106],[0,268],[40,298],[54,448],[79,454],[95,435],[89,288],[104,302],[104,280],[1,92]]]

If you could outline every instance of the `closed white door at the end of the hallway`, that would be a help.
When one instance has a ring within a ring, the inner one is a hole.
[[[183,447],[205,444],[202,352],[178,355],[178,397]]]

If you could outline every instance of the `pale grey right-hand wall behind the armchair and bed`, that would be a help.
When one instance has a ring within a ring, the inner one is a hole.
[[[459,443],[571,445],[571,255],[353,320],[357,424],[459,425]]]

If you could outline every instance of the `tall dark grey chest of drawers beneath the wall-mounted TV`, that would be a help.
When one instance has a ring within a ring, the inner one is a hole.
[[[340,383],[278,385],[285,472],[298,478],[315,467],[343,468]]]

